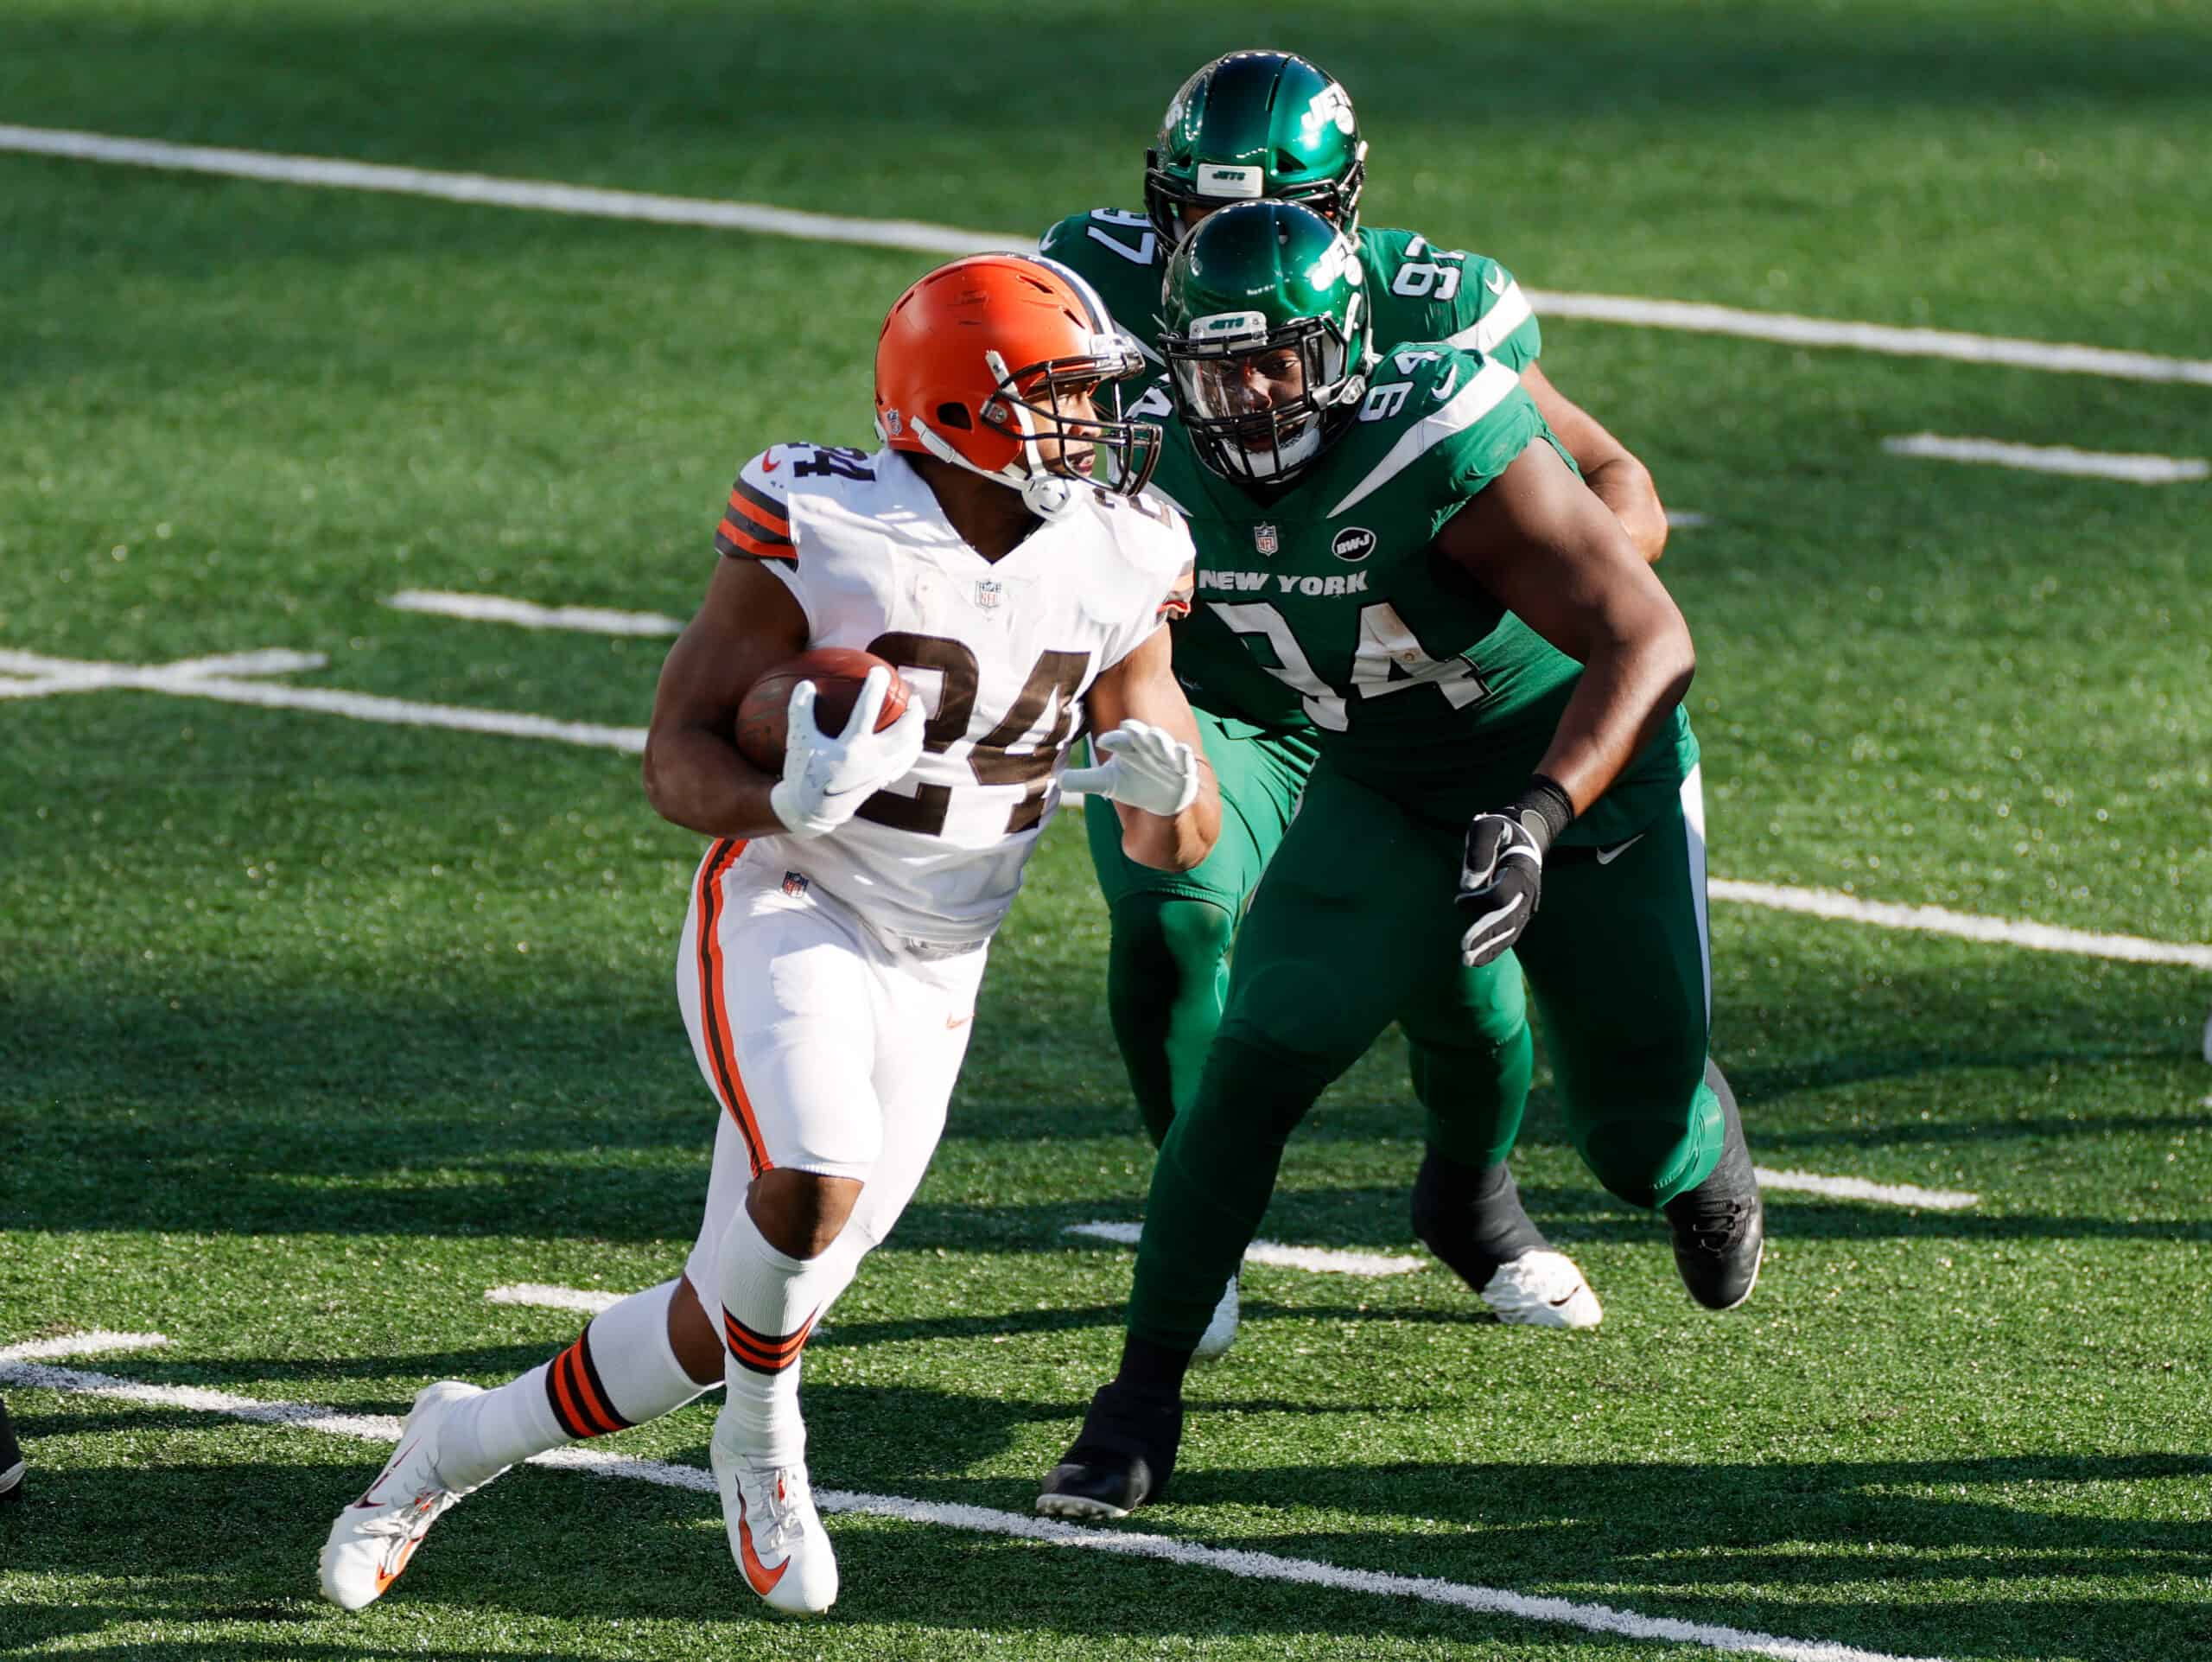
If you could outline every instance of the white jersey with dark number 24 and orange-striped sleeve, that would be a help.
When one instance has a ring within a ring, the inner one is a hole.
[[[1190,604],[1192,544],[1159,498],[1082,491],[998,562],[975,553],[896,449],[774,445],[730,494],[714,547],[799,598],[807,646],[898,666],[929,715],[922,759],[814,841],[759,839],[878,934],[982,943],[1053,810],[1082,697]]]

